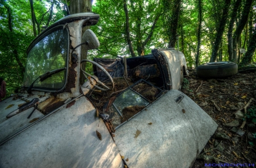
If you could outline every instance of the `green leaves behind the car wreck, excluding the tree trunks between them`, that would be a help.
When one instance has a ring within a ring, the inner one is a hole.
[[[33,2],[35,16],[38,21],[41,21],[41,26],[47,24],[49,18],[49,12],[47,11],[50,10],[51,5],[53,5],[53,15],[49,25],[68,14],[67,5],[64,3],[69,3],[69,1],[34,0]],[[175,8],[173,2],[166,0],[127,0],[131,43],[136,55],[138,55],[138,46],[150,34],[152,24],[157,16],[160,18],[157,20],[152,37],[144,46],[144,53],[149,54],[151,49],[154,48],[167,48],[168,41],[170,40],[168,28],[170,27],[171,16]],[[210,60],[216,30],[220,26],[221,12],[224,5],[224,0],[202,1],[203,22],[201,24],[200,64]],[[229,14],[233,5],[234,3],[230,6]],[[234,31],[236,31],[236,26],[241,19],[244,6],[245,1],[242,1],[242,6],[237,13]],[[253,7],[250,11],[251,19],[241,35],[240,48],[245,46],[245,50],[248,48],[248,39],[252,37],[253,27],[255,27],[252,21],[252,18],[255,18],[256,15],[255,6],[256,1],[253,2]],[[126,40],[126,18],[123,1],[97,0],[94,6],[92,6],[92,11],[101,16],[98,24],[91,27],[99,38],[101,45],[98,50],[89,51],[88,58],[129,57],[130,51]],[[197,2],[191,0],[182,1],[177,33],[179,34],[179,50],[184,53],[188,67],[195,66],[198,21]],[[222,55],[223,61],[228,61],[227,32],[228,27],[226,26],[220,44],[220,51],[218,52],[218,55]],[[8,96],[13,93],[16,87],[22,85],[24,72],[21,65],[26,65],[26,50],[34,39],[29,1],[0,0],[0,37],[0,76],[7,83]],[[177,42],[175,48],[177,49]],[[255,58],[254,53],[253,60]],[[217,59],[220,61],[220,58]],[[93,71],[89,63],[86,66],[86,71]],[[255,120],[253,121],[255,122]]]

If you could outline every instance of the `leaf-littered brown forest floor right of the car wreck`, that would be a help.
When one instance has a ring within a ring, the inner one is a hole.
[[[256,133],[255,123],[247,118],[245,126],[240,128],[245,120],[241,117],[243,108],[250,102],[246,111],[252,115],[253,112],[248,109],[256,106],[256,74],[245,72],[224,79],[201,79],[196,77],[195,69],[191,69],[189,77],[185,78],[181,91],[192,98],[218,124],[216,132],[199,155],[200,159],[197,159],[192,167],[210,167],[209,163],[217,162],[236,165],[254,163],[256,167],[256,143],[253,138],[253,133]],[[235,115],[238,114],[237,111],[240,117]],[[256,115],[256,111],[254,114]],[[208,163],[208,166],[205,163]],[[212,167],[218,166],[213,164]]]

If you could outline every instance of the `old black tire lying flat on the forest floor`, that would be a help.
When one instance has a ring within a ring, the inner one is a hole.
[[[199,77],[226,77],[237,74],[238,66],[234,62],[209,62],[196,68]]]

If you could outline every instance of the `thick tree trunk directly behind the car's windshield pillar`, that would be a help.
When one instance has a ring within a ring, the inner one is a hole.
[[[92,0],[71,0],[70,1],[70,14],[77,14],[81,12],[91,12],[92,11]],[[86,26],[82,29],[82,35],[86,31],[86,29],[90,29],[89,26]],[[81,46],[81,60],[87,58],[87,51],[84,49],[84,46]],[[82,70],[85,71],[86,64],[82,64]],[[85,77],[82,72],[80,72],[80,84],[84,84]]]

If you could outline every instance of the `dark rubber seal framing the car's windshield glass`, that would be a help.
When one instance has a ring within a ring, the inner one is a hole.
[[[68,39],[67,39],[67,42],[68,42],[68,46],[67,46],[67,60],[66,60],[66,64],[65,64],[65,68],[66,70],[64,71],[65,73],[65,81],[64,81],[64,85],[63,87],[61,87],[60,89],[53,89],[53,88],[44,88],[44,87],[33,87],[31,89],[31,91],[42,91],[42,92],[52,92],[52,93],[56,93],[56,92],[60,92],[60,91],[63,91],[63,89],[66,87],[67,85],[67,80],[68,80],[68,70],[69,70],[69,48],[70,48],[70,33],[69,33],[69,28],[66,26],[66,25],[57,25],[56,27],[53,27],[51,29],[49,29],[48,31],[46,32],[43,32],[41,35],[39,35],[40,37],[38,37],[35,41],[32,41],[30,46],[28,47],[27,49],[27,55],[30,53],[30,50],[32,48],[34,48],[34,46],[36,44],[38,44],[38,42],[40,40],[42,40],[44,37],[50,35],[51,33],[57,31],[57,30],[60,30],[60,29],[65,29],[67,31],[67,34],[68,34]],[[27,64],[26,64],[26,67],[27,67]],[[42,74],[43,75],[43,74]],[[29,86],[24,86],[24,88],[28,88]]]

